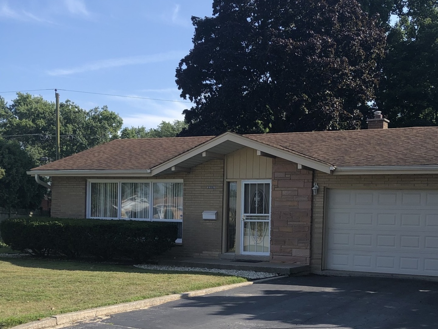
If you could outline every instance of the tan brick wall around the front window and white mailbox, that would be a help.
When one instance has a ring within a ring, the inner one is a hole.
[[[222,160],[212,160],[192,168],[187,174],[121,178],[184,180],[183,244],[170,250],[168,256],[211,258],[218,257],[221,253],[223,169]],[[102,177],[52,177],[52,217],[86,217],[87,179],[102,179]],[[215,189],[208,189],[207,186],[215,186]],[[217,220],[203,220],[204,210],[218,211]]]

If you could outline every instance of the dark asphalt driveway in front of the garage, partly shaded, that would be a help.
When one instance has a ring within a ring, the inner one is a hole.
[[[280,278],[113,315],[74,329],[438,328],[438,282]]]

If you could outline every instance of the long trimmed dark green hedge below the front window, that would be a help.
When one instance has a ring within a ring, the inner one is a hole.
[[[10,218],[0,232],[9,247],[36,256],[103,260],[155,260],[177,239],[173,223],[105,219]]]

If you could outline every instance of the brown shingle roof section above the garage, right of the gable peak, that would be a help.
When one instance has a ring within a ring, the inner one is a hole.
[[[438,165],[438,127],[245,136],[337,167]]]

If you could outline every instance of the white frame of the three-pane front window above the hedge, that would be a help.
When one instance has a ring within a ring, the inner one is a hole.
[[[91,184],[92,183],[117,183],[117,217],[92,217],[91,216]],[[121,202],[122,202],[122,183],[149,183],[149,218],[121,218]],[[89,219],[120,219],[132,221],[146,221],[146,222],[183,222],[181,219],[157,219],[153,218],[153,186],[154,183],[183,183],[183,200],[184,200],[184,180],[183,179],[87,179],[87,218]],[[184,214],[184,209],[183,209]],[[183,215],[184,217],[184,215]],[[182,239],[177,239],[176,243],[182,243]]]

